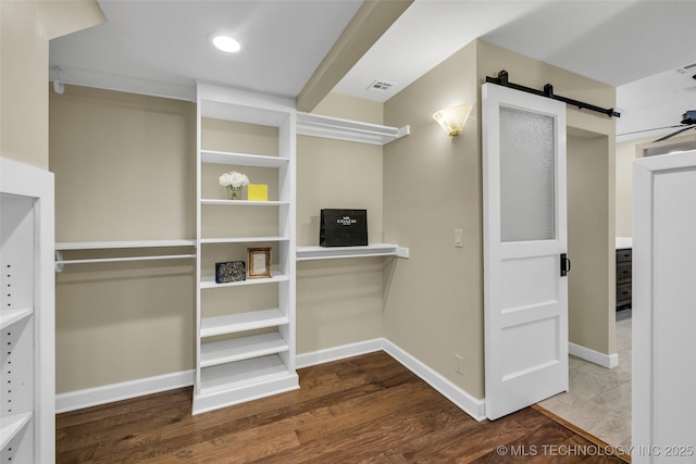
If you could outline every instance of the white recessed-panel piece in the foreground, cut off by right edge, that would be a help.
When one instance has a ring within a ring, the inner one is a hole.
[[[696,462],[696,151],[633,162],[632,455]]]

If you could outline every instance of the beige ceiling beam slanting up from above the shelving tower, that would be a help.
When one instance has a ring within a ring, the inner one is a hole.
[[[312,111],[412,2],[365,0],[300,90],[297,110]]]

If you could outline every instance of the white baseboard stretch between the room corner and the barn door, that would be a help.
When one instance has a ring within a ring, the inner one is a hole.
[[[483,421],[486,418],[485,400],[475,399],[465,390],[386,339],[384,340],[384,351],[474,419]]]

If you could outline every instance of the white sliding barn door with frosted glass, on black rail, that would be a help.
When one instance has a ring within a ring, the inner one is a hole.
[[[486,416],[568,390],[566,105],[485,84]]]

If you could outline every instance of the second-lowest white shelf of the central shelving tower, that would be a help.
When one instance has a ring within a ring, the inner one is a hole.
[[[200,366],[211,367],[282,353],[288,350],[287,342],[278,333],[213,341],[201,344]]]

